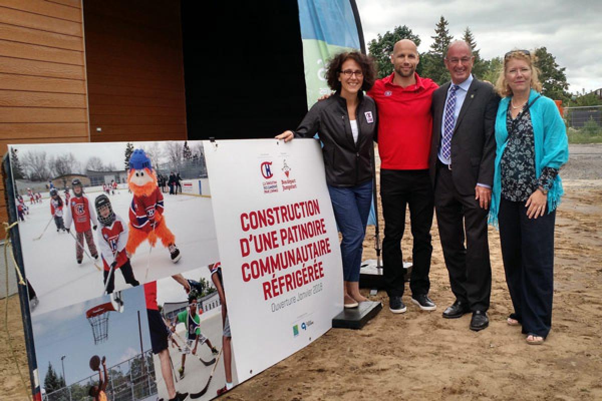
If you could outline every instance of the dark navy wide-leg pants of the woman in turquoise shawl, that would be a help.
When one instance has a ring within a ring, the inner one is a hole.
[[[524,334],[545,338],[552,325],[556,210],[530,219],[524,205],[500,200],[501,257],[514,306],[512,317],[521,322]]]

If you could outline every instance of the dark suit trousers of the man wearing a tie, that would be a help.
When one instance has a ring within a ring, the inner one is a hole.
[[[488,211],[479,206],[474,194],[459,194],[452,171],[440,163],[435,183],[435,210],[452,292],[471,310],[488,310],[491,296]]]

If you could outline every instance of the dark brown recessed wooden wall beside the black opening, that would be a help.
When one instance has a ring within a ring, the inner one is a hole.
[[[185,139],[180,2],[83,4],[91,141]]]

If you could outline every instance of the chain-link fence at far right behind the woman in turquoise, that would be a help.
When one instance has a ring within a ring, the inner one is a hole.
[[[564,116],[569,142],[602,142],[602,106],[566,107]]]

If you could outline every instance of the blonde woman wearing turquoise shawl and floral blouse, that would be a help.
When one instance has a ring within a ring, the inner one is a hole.
[[[527,50],[507,52],[496,90],[503,97],[495,118],[495,174],[489,222],[500,229],[506,283],[514,313],[529,344],[550,332],[554,219],[562,197],[560,167],[568,160],[565,124],[541,83]]]

